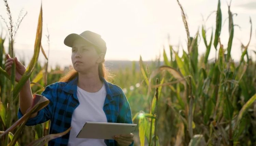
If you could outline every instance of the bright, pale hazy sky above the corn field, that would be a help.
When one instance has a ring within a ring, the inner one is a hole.
[[[27,15],[19,26],[15,36],[14,50],[18,59],[25,59],[28,63],[33,54],[34,39],[37,29],[40,0],[9,0],[9,6],[13,19],[16,21],[22,8]],[[201,26],[207,28],[207,39],[215,30],[217,0],[180,0],[187,16],[191,36],[195,36],[197,30],[201,35]],[[222,8],[222,32],[221,42],[227,47],[229,0],[221,0]],[[107,45],[105,60],[154,60],[162,58],[163,48],[169,54],[168,44],[174,46],[174,50],[182,48],[186,50],[186,32],[181,17],[181,10],[176,0],[42,0],[43,7],[43,36],[42,46],[48,52],[47,27],[50,35],[49,63],[61,67],[71,65],[71,48],[64,45],[63,40],[71,33],[80,34],[90,30],[102,36]],[[256,1],[233,0],[231,12],[237,13],[233,17],[234,39],[231,56],[239,60],[241,56],[241,42],[246,45],[250,37],[250,17],[252,18],[253,34],[249,54],[255,58],[256,51]],[[3,0],[0,1],[0,15],[5,19],[8,16]],[[2,20],[3,35],[6,27]],[[47,26],[47,27],[46,27]],[[0,29],[1,31],[1,29]],[[169,37],[168,37],[169,36]],[[6,47],[8,43],[4,44]],[[199,39],[199,55],[205,53],[205,45]],[[215,57],[215,49],[212,46],[209,59]],[[40,54],[39,60],[45,62]]]

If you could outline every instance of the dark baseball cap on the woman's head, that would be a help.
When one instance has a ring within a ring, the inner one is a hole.
[[[91,31],[84,31],[80,35],[79,34],[69,34],[64,39],[64,44],[68,47],[72,47],[73,42],[76,39],[84,39],[85,41],[95,45],[101,53],[106,53],[106,42],[101,38],[101,35],[91,32]]]

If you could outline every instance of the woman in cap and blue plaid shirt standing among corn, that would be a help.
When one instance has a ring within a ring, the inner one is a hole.
[[[60,138],[49,141],[49,146],[128,146],[133,145],[133,134],[116,135],[114,140],[78,139],[86,121],[132,123],[131,110],[122,89],[107,82],[104,68],[106,43],[100,35],[85,31],[82,34],[70,34],[64,44],[72,47],[71,60],[74,67],[59,82],[45,88],[42,95],[50,103],[35,113],[26,123],[27,126],[51,120],[49,134],[60,133],[72,127],[70,132]],[[13,61],[16,63],[16,81],[18,82],[26,68],[15,57],[6,55],[5,70],[10,74]],[[32,105],[32,92],[28,80],[19,92],[20,108],[18,117],[22,117]]]

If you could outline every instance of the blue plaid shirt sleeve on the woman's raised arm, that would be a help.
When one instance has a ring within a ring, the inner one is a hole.
[[[54,99],[56,99],[56,84],[51,84],[45,88],[45,90],[42,92],[41,95],[45,96],[50,102],[49,104],[38,111],[37,116],[29,118],[27,123],[25,124],[26,126],[33,126],[37,125],[40,123],[44,123],[48,120],[51,120],[52,118],[52,113],[53,113],[53,103]],[[20,108],[18,109],[18,118],[21,118],[23,116],[22,112],[20,111]]]

